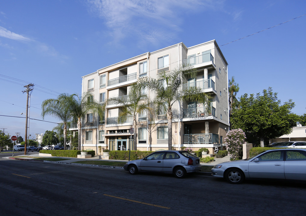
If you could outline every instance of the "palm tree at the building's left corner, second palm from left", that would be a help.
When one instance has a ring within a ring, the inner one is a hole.
[[[70,107],[73,113],[73,122],[77,121],[78,128],[78,150],[81,150],[81,128],[82,128],[82,118],[86,116],[89,112],[95,112],[99,117],[104,116],[102,106],[93,99],[93,95],[90,92],[85,92],[82,96],[74,94],[72,103]]]

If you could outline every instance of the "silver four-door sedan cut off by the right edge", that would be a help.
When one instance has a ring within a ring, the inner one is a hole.
[[[232,184],[245,178],[306,180],[306,149],[267,150],[247,160],[217,164],[211,172]]]

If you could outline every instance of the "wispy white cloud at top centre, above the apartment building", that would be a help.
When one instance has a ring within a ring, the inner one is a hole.
[[[127,37],[140,41],[175,41],[184,14],[218,7],[212,0],[87,0],[92,14],[104,20],[114,41]],[[165,38],[165,35],[171,37]]]

